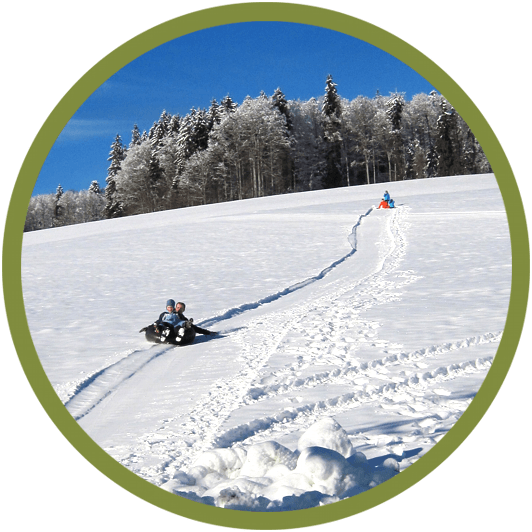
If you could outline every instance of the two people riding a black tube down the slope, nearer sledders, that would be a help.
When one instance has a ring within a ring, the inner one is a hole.
[[[166,302],[166,310],[161,313],[159,318],[147,327],[143,327],[139,332],[146,334],[146,340],[156,344],[174,344],[187,345],[191,344],[196,338],[196,334],[215,335],[216,332],[202,329],[194,325],[193,319],[187,319],[183,312],[185,304],[173,299]]]

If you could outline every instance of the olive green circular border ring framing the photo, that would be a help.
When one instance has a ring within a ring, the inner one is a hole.
[[[70,416],[43,371],[31,341],[21,281],[23,227],[33,187],[53,143],[78,107],[120,68],[161,44],[201,29],[250,21],[297,22],[342,32],[377,46],[421,74],[464,118],[486,153],[503,196],[512,245],[512,289],[501,343],[479,392],[454,427],[425,456],[384,484],[331,505],[279,513],[222,509],[178,497],[136,476],[96,445]],[[530,236],[524,200],[506,151],[480,108],[447,71],[403,38],[356,15],[312,4],[208,6],[151,26],[108,52],[62,95],[32,139],[11,189],[3,233],[4,313],[20,367],[50,421],[79,455],[126,492],[164,512],[221,528],[286,530],[340,521],[381,506],[422,482],[467,441],[491,409],[511,371],[528,314],[530,291],[524,288],[530,286]]]

